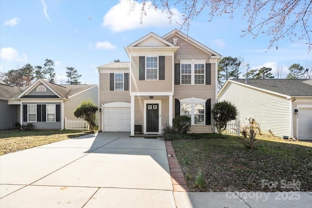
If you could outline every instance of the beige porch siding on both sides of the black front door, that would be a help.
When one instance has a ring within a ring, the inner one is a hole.
[[[142,125],[144,129],[144,100],[142,98],[135,99],[135,124]],[[161,126],[169,124],[169,99],[161,99]]]

